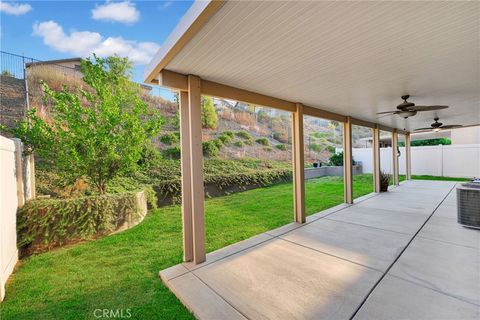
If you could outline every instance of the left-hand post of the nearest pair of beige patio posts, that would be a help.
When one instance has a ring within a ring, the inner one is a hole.
[[[182,227],[183,227],[183,261],[193,260],[192,229],[192,170],[190,154],[190,108],[188,92],[180,92],[180,140],[182,168]]]

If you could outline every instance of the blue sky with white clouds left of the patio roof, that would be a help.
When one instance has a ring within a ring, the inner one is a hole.
[[[135,81],[192,1],[1,1],[1,50],[39,60],[118,53]],[[168,97],[166,92],[163,95]]]

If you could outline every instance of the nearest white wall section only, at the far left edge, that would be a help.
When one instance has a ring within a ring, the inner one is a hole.
[[[0,301],[5,297],[5,282],[18,260],[17,207],[15,145],[0,136]]]

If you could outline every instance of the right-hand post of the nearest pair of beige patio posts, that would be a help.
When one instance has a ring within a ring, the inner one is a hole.
[[[203,153],[201,121],[201,80],[188,76],[188,106],[190,121],[190,167],[193,230],[193,262],[205,261],[205,209],[203,190]]]

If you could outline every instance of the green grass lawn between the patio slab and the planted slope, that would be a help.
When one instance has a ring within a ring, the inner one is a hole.
[[[354,177],[354,196],[372,191],[372,176]],[[343,202],[343,179],[306,182],[307,213]],[[292,185],[208,199],[207,250],[292,221]],[[153,210],[125,232],[23,260],[7,285],[0,319],[94,319],[95,309],[131,309],[131,319],[192,319],[158,272],[182,260],[179,206]]]

